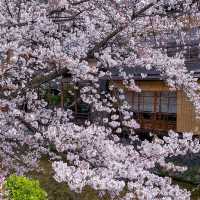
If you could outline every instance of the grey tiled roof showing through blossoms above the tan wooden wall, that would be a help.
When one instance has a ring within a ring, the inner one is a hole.
[[[176,52],[186,47],[189,52],[186,52],[185,65],[189,71],[194,72],[196,78],[200,78],[200,28],[192,28],[187,31],[184,35],[184,42],[180,39],[179,33],[169,33],[166,37],[156,36],[157,40],[162,40],[162,46],[159,48],[167,49],[168,55],[173,56]],[[142,43],[148,44],[149,46],[155,47],[155,36],[145,38]],[[189,50],[190,49],[190,50]],[[189,56],[189,57],[188,57]],[[188,58],[187,58],[188,57]],[[134,79],[142,80],[160,80],[162,77],[156,69],[146,70],[144,67],[131,67],[125,66],[123,70],[127,75],[133,75]],[[112,79],[119,80],[123,79],[119,74],[119,69],[112,68]],[[147,74],[145,78],[142,78],[141,74]]]

